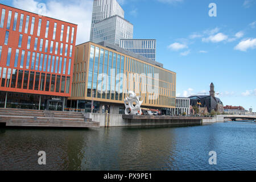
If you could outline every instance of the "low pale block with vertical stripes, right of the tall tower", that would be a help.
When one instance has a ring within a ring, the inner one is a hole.
[[[121,39],[120,47],[155,61],[155,39]]]

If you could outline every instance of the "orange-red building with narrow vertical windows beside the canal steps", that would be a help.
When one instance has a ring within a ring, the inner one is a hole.
[[[77,25],[0,4],[0,107],[61,110]]]

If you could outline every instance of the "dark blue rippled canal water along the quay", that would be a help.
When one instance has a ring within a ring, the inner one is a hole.
[[[0,170],[255,170],[256,125],[0,129]],[[46,152],[46,165],[38,152]],[[209,151],[217,154],[210,165]]]

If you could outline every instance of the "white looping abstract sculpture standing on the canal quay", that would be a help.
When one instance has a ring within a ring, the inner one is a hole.
[[[139,101],[141,96],[136,96],[133,91],[128,92],[128,97],[125,98],[125,114],[126,115],[141,115],[141,104],[143,102]]]

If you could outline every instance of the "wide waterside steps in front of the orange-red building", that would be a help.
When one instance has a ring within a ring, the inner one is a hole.
[[[82,113],[0,108],[0,123],[6,126],[100,127]]]

